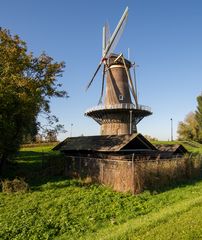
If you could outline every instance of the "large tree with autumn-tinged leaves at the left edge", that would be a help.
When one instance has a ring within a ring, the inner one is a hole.
[[[42,53],[34,57],[26,43],[0,28],[0,169],[17,152],[23,136],[31,134],[39,114],[49,124],[51,97],[67,97],[60,90],[64,62],[55,62]]]

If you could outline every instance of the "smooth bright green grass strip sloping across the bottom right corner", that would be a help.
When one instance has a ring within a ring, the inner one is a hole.
[[[201,239],[201,210],[202,197],[182,200],[119,227],[100,231],[91,239]]]

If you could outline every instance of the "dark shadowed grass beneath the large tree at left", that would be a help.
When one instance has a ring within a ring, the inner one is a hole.
[[[2,179],[23,178],[31,188],[64,177],[65,157],[58,152],[21,151],[7,164]],[[65,186],[64,186],[65,187]]]

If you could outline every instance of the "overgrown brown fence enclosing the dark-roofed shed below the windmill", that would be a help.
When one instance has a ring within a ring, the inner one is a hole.
[[[157,160],[127,160],[68,156],[65,175],[88,179],[115,191],[133,194],[158,190],[171,184],[202,176],[202,156]]]

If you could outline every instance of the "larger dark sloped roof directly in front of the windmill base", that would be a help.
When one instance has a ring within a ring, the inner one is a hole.
[[[53,150],[60,151],[102,151],[117,152],[121,149],[137,149],[135,146],[143,146],[144,149],[156,150],[156,148],[141,134],[132,135],[101,135],[66,138]]]

